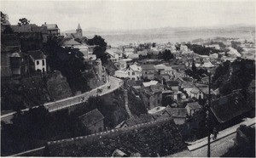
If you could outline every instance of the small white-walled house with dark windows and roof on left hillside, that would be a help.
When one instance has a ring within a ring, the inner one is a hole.
[[[41,50],[28,51],[30,58],[32,59],[32,69],[35,71],[46,72],[46,56]]]

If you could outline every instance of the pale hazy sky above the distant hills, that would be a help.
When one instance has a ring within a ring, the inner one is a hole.
[[[55,23],[61,31],[255,24],[253,1],[1,1],[12,25]]]

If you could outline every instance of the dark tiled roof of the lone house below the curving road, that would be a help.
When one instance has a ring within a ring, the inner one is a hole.
[[[87,112],[83,116],[79,116],[79,119],[83,122],[85,127],[90,127],[96,122],[102,121],[104,116],[102,116],[102,113],[99,110],[95,109]]]

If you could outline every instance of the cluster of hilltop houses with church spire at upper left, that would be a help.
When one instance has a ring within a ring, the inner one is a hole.
[[[74,33],[61,36],[61,31],[56,24],[44,23],[41,26],[35,24],[10,25],[9,20],[1,22],[1,76],[31,76],[35,71],[47,73],[50,71],[47,65],[47,52],[44,45],[49,39],[57,39],[58,45],[69,54],[76,54],[77,58],[83,58],[84,63],[93,67],[93,74],[97,80],[91,80],[90,85],[97,82],[106,82],[105,68],[101,59],[96,59],[93,49],[83,37],[80,27]],[[81,55],[78,55],[81,54]],[[61,54],[58,54],[61,58]],[[92,71],[92,70],[91,70]]]

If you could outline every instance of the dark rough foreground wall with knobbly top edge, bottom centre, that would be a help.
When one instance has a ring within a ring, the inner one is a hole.
[[[48,156],[111,156],[113,150],[142,156],[170,155],[186,148],[172,119],[113,129],[89,136],[49,142]],[[46,152],[45,152],[46,153]]]

